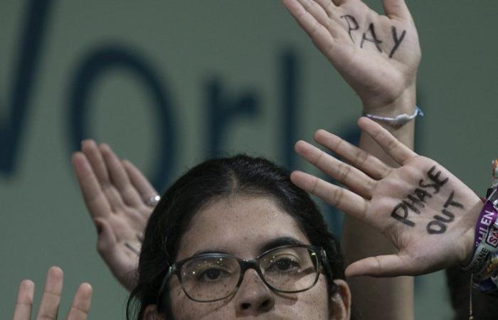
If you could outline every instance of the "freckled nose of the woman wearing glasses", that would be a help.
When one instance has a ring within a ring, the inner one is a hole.
[[[270,311],[275,305],[273,292],[255,270],[247,270],[235,296],[237,314],[257,316]]]

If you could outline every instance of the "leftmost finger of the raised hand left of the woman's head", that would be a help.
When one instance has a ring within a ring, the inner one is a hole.
[[[83,200],[92,218],[109,215],[112,208],[85,154],[75,152],[72,162]]]

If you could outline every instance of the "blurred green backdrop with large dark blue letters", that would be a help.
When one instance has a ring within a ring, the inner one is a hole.
[[[381,11],[380,1],[367,1]],[[408,1],[423,60],[416,149],[482,194],[498,156],[498,2]],[[159,190],[209,156],[292,152],[324,128],[357,139],[361,104],[277,0],[0,1],[0,314],[21,279],[65,271],[63,306],[124,319],[70,155],[107,142]],[[323,207],[339,233],[341,214]],[[450,319],[443,273],[416,279],[416,319]]]

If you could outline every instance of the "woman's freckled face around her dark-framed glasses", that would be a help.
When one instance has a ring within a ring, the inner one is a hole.
[[[295,220],[274,201],[233,196],[201,208],[181,238],[176,261],[205,251],[250,260],[290,239],[310,244]],[[255,270],[249,269],[238,291],[221,301],[189,299],[176,276],[169,279],[169,297],[174,319],[349,319],[349,289],[344,281],[337,283],[340,294],[331,298],[324,274],[305,292],[282,294],[273,292]]]

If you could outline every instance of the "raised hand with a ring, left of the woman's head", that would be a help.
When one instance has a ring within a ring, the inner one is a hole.
[[[97,250],[127,289],[134,288],[142,234],[157,191],[129,161],[121,161],[107,144],[83,142],[73,154],[85,205],[98,233]]]

